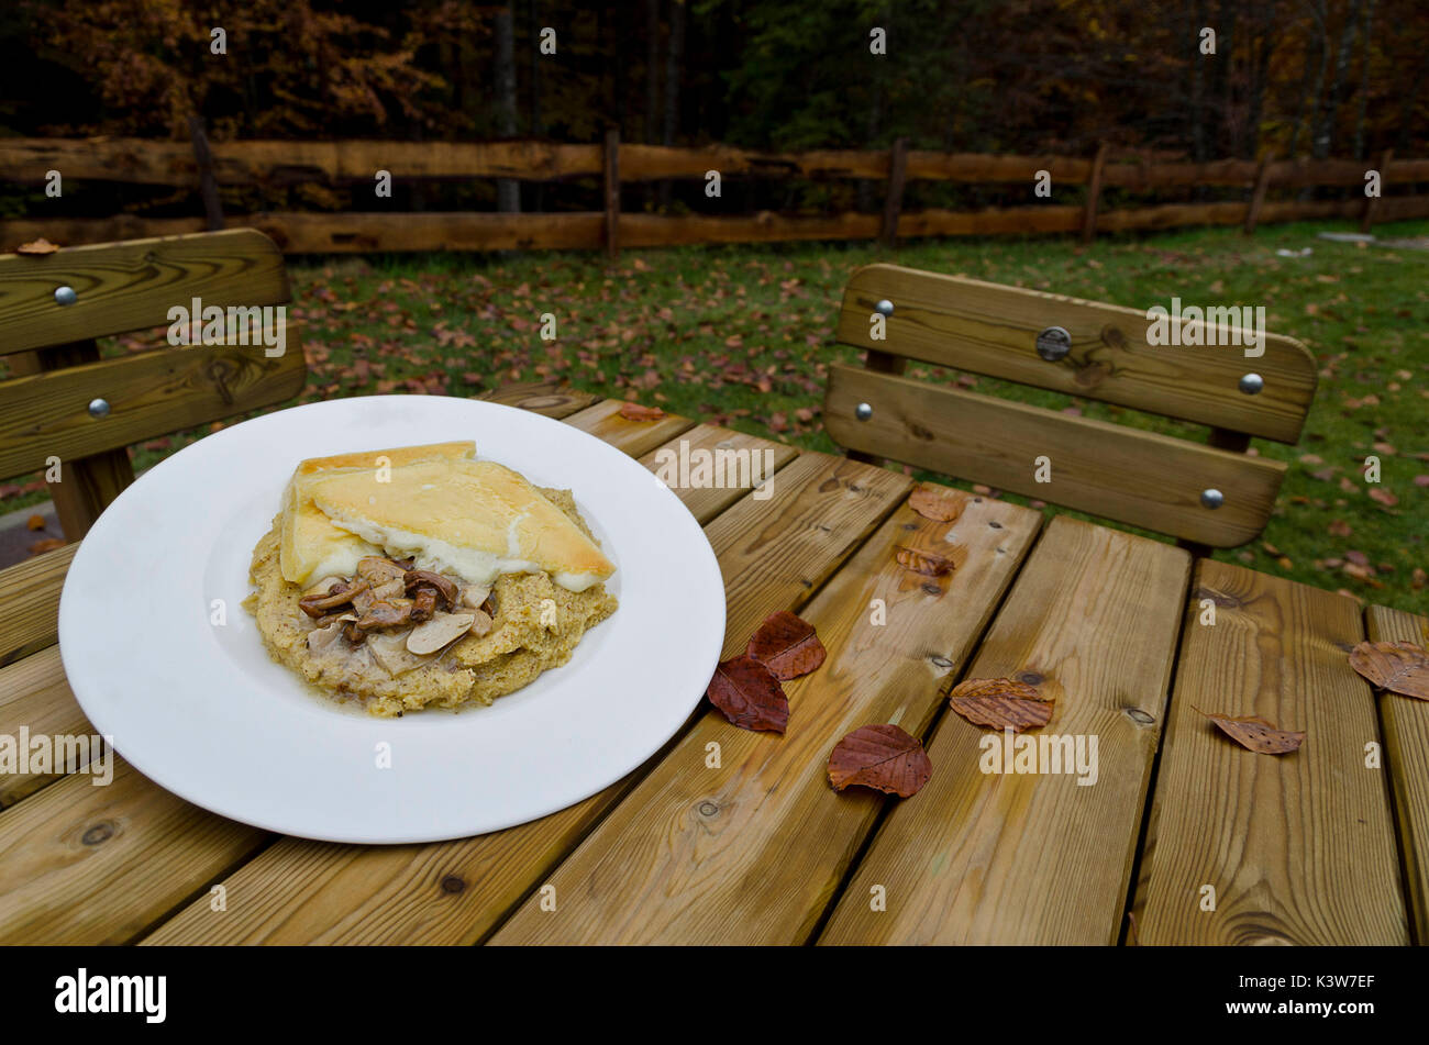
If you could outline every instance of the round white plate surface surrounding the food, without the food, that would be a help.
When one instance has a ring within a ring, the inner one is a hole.
[[[239,605],[253,545],[302,458],[450,440],[572,490],[620,608],[489,708],[374,718],[327,701]],[[340,842],[462,838],[593,795],[680,728],[723,638],[714,552],[646,468],[560,421],[434,395],[314,403],[186,447],[104,511],[60,600],[70,687],[134,768],[224,817]]]

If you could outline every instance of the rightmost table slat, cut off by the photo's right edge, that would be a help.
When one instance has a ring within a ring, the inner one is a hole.
[[[1413,642],[1429,650],[1429,618],[1372,605],[1365,624],[1373,642]],[[1429,701],[1382,692],[1379,725],[1415,939],[1429,944]]]

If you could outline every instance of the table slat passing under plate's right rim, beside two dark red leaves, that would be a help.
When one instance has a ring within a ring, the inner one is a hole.
[[[726,578],[760,564],[757,578],[727,585],[730,628],[747,630],[773,608],[802,605],[907,485],[892,473],[805,454],[776,474],[769,500],[747,495],[714,518],[706,532]],[[226,881],[250,902],[217,914],[200,899],[144,942],[474,942],[544,879],[630,782],[540,821],[456,842],[389,849],[284,839]]]

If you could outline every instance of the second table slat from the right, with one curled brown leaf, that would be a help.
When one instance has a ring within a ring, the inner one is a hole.
[[[1203,600],[1215,624],[1202,624]],[[1389,785],[1383,768],[1366,767],[1366,745],[1380,739],[1375,698],[1346,657],[1362,638],[1353,600],[1200,561],[1136,942],[1408,942]],[[1196,708],[1259,715],[1305,731],[1305,744],[1246,751]]]

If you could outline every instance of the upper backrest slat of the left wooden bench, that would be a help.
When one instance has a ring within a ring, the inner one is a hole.
[[[61,306],[56,288],[76,293]],[[0,256],[0,355],[167,325],[169,310],[289,300],[277,246],[254,228]]]

